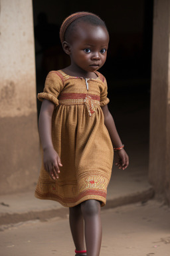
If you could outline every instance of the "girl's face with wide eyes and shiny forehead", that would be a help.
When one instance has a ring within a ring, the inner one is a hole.
[[[86,72],[97,71],[106,61],[108,43],[105,27],[79,23],[70,40],[71,65]]]

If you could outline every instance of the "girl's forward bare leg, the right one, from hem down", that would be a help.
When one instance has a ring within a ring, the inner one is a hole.
[[[88,256],[99,256],[102,243],[100,201],[87,200],[81,203],[85,221],[85,240]]]

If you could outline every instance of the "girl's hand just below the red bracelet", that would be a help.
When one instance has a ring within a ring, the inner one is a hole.
[[[126,169],[129,165],[129,157],[124,149],[115,151],[116,165],[119,169]]]

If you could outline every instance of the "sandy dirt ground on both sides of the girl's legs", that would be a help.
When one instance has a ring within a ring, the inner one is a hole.
[[[170,209],[158,201],[102,210],[101,256],[169,256]],[[2,256],[74,255],[68,216],[1,226]]]

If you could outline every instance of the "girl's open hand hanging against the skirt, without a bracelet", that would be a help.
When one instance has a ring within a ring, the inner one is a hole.
[[[52,179],[58,179],[57,173],[60,173],[59,166],[61,167],[62,163],[54,148],[44,149],[44,169]]]

